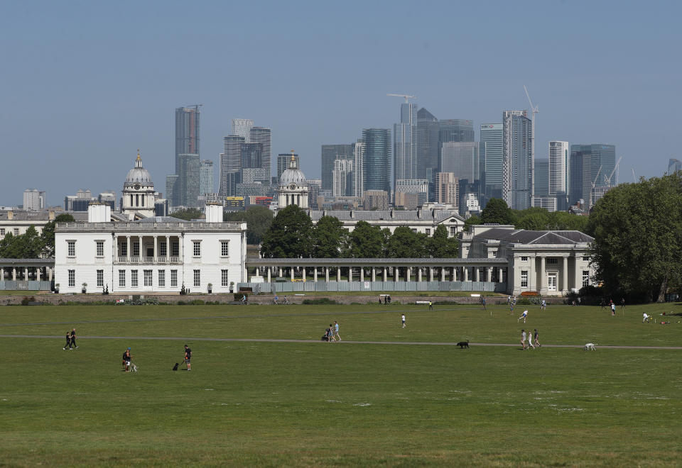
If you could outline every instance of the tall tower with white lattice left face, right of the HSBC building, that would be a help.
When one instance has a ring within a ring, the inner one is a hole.
[[[531,206],[533,165],[528,111],[502,112],[502,196],[515,210]]]

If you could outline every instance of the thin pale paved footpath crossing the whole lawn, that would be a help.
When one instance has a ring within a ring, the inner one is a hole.
[[[49,338],[61,340],[62,335],[0,335],[0,338]],[[191,338],[173,336],[79,336],[79,340],[164,340],[164,341],[233,341],[233,342],[273,342],[273,343],[331,343],[320,340],[276,340],[271,338]],[[420,345],[420,346],[457,346],[456,342],[425,342],[425,341],[340,341],[336,344],[351,345]],[[518,343],[469,343],[470,346],[507,346],[519,347]],[[585,345],[542,345],[541,347],[572,347],[581,348]],[[597,345],[599,348],[612,350],[682,350],[682,346],[620,346]]]

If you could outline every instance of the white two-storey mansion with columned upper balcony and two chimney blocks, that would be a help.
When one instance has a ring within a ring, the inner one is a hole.
[[[206,221],[149,217],[112,222],[94,202],[87,223],[55,228],[55,284],[60,292],[227,293],[245,279],[246,223],[223,223],[222,205],[207,204]],[[87,284],[87,286],[83,286]],[[211,286],[209,286],[211,284]]]

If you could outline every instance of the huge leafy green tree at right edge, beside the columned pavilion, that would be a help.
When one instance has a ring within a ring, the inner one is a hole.
[[[607,291],[663,301],[682,275],[682,174],[622,184],[590,214],[597,280]]]

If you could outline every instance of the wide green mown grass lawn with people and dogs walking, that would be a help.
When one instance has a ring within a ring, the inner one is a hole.
[[[523,309],[2,307],[0,335],[16,338],[3,338],[0,464],[678,466],[682,350],[408,344],[516,343],[524,327],[543,344],[682,344],[676,304],[534,306],[526,325]],[[334,320],[345,341],[404,344],[320,342]],[[18,336],[72,327],[74,351]],[[193,370],[172,372],[185,342]],[[139,372],[120,370],[127,346]]]

